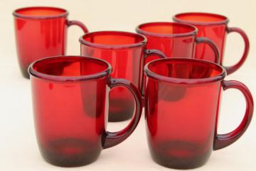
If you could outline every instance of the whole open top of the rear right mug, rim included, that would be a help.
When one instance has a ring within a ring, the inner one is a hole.
[[[186,17],[186,16],[193,16],[193,20],[182,19],[182,17]],[[196,21],[195,19],[196,16],[215,18],[215,19],[218,19],[218,21]],[[214,26],[214,25],[227,24],[229,22],[229,19],[226,16],[216,14],[216,13],[202,13],[202,12],[177,13],[173,17],[173,20],[180,23],[189,23],[191,25],[198,25],[198,26]]]

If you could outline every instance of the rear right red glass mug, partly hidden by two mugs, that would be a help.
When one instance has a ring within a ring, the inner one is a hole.
[[[213,40],[220,50],[220,65],[223,65],[226,35],[233,32],[240,34],[245,42],[245,50],[238,63],[230,67],[225,67],[228,75],[238,70],[245,62],[250,47],[249,39],[242,29],[228,27],[229,20],[227,17],[214,13],[178,13],[174,16],[174,21],[196,26],[199,37],[206,37]],[[196,47],[195,57],[214,61],[213,53],[207,45],[198,45]]]

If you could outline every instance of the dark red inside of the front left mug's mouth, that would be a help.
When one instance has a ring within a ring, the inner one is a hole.
[[[110,65],[91,57],[49,57],[34,62],[29,67],[31,75],[50,75],[58,77],[93,76],[102,72],[110,72]]]

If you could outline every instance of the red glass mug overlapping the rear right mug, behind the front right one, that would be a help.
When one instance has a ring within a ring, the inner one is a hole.
[[[215,54],[215,62],[218,62],[217,46],[208,38],[197,38],[198,30],[194,26],[171,22],[143,23],[136,31],[146,36],[146,48],[161,50],[168,57],[193,58],[197,44],[208,44]],[[154,59],[151,57],[146,63]]]

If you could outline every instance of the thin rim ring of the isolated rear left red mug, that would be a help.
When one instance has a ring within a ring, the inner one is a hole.
[[[63,13],[56,14],[56,15],[50,15],[50,16],[28,16],[24,15],[21,13],[18,13],[18,11],[22,10],[31,10],[31,9],[51,9],[51,10],[60,10],[63,11]],[[48,18],[61,18],[61,17],[66,17],[68,16],[69,12],[66,9],[58,8],[58,7],[53,7],[53,6],[28,6],[28,7],[23,7],[14,10],[13,15],[18,18],[28,18],[28,19],[48,19]]]

